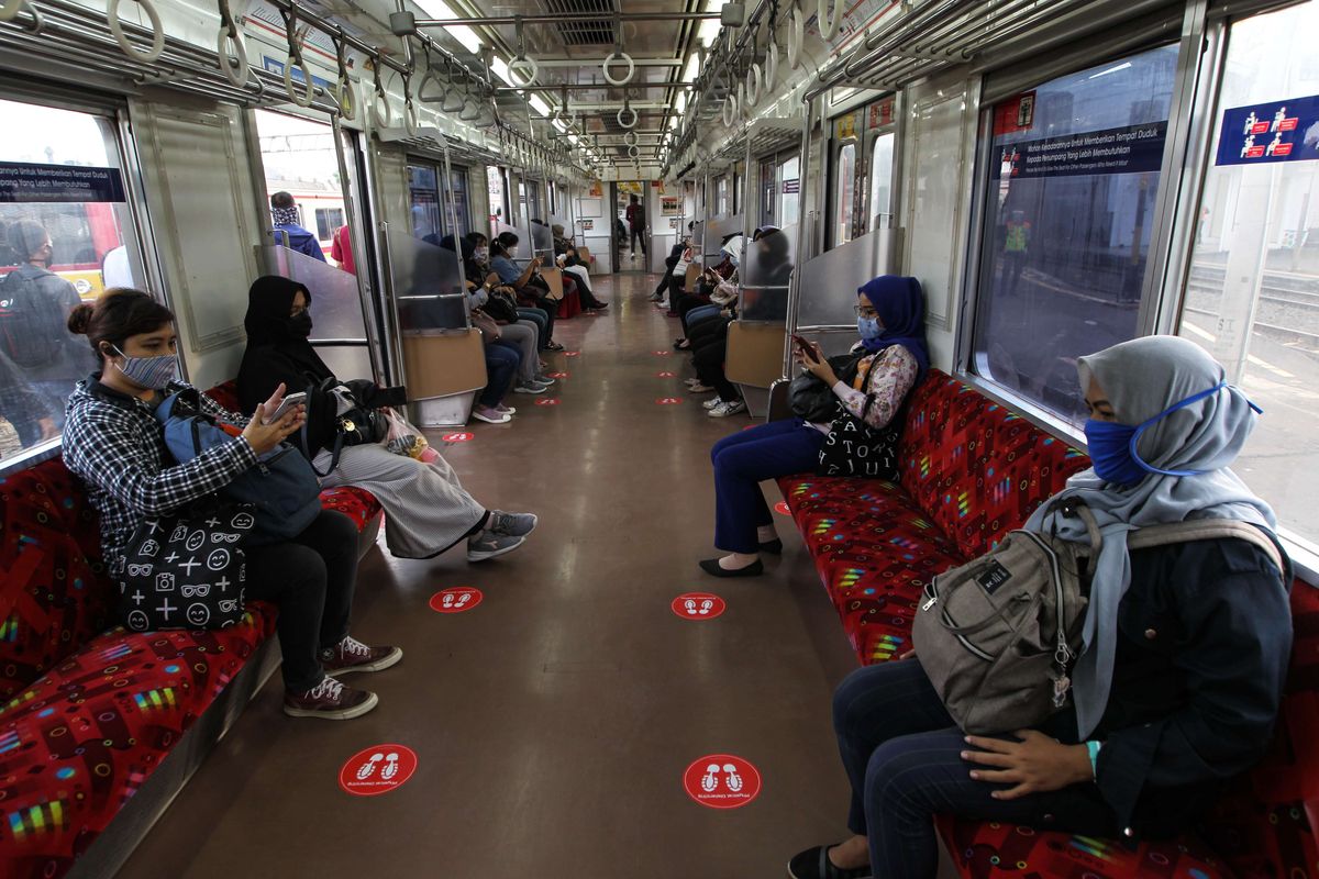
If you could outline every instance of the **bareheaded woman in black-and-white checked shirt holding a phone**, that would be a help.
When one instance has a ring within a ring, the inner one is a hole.
[[[210,415],[241,427],[243,434],[187,464],[174,464],[154,415],[166,394],[189,387],[175,380],[174,315],[145,293],[112,290],[95,306],[74,308],[69,329],[88,337],[100,369],[78,382],[69,398],[63,457],[87,484],[100,513],[107,559],[128,543],[142,521],[214,494],[302,426],[301,406],[278,422],[266,420],[284,398],[284,385],[252,406],[251,419],[203,395]],[[357,577],[352,519],[322,510],[293,540],[245,551],[245,598],[280,609],[285,713],[348,720],[375,708],[375,693],[335,680],[350,672],[380,671],[402,659],[397,647],[368,647],[348,634]]]

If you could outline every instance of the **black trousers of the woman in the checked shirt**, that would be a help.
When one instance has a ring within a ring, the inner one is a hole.
[[[343,513],[322,510],[286,543],[247,551],[247,600],[280,609],[284,685],[294,692],[321,683],[319,651],[348,634],[357,584],[357,526]]]

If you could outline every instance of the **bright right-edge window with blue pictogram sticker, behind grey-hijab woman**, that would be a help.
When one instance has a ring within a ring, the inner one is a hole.
[[[1308,467],[1319,398],[1319,128],[1310,127],[1319,101],[1295,99],[1315,94],[1315,33],[1316,4],[1231,28],[1179,327],[1264,409],[1233,468],[1311,547],[1319,543],[1311,501],[1319,474]]]

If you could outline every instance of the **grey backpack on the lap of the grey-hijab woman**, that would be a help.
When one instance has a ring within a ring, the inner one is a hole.
[[[913,646],[930,683],[964,733],[987,735],[1038,725],[1067,704],[1082,644],[1091,559],[1101,536],[1084,503],[1068,498],[1089,544],[1012,531],[987,555],[938,575],[925,588]],[[1194,519],[1129,532],[1129,550],[1239,538],[1285,572],[1278,547],[1260,528],[1232,519]]]

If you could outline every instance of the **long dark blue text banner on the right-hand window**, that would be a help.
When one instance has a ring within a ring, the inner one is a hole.
[[[1167,121],[1002,144],[993,179],[1141,174],[1163,165]]]

